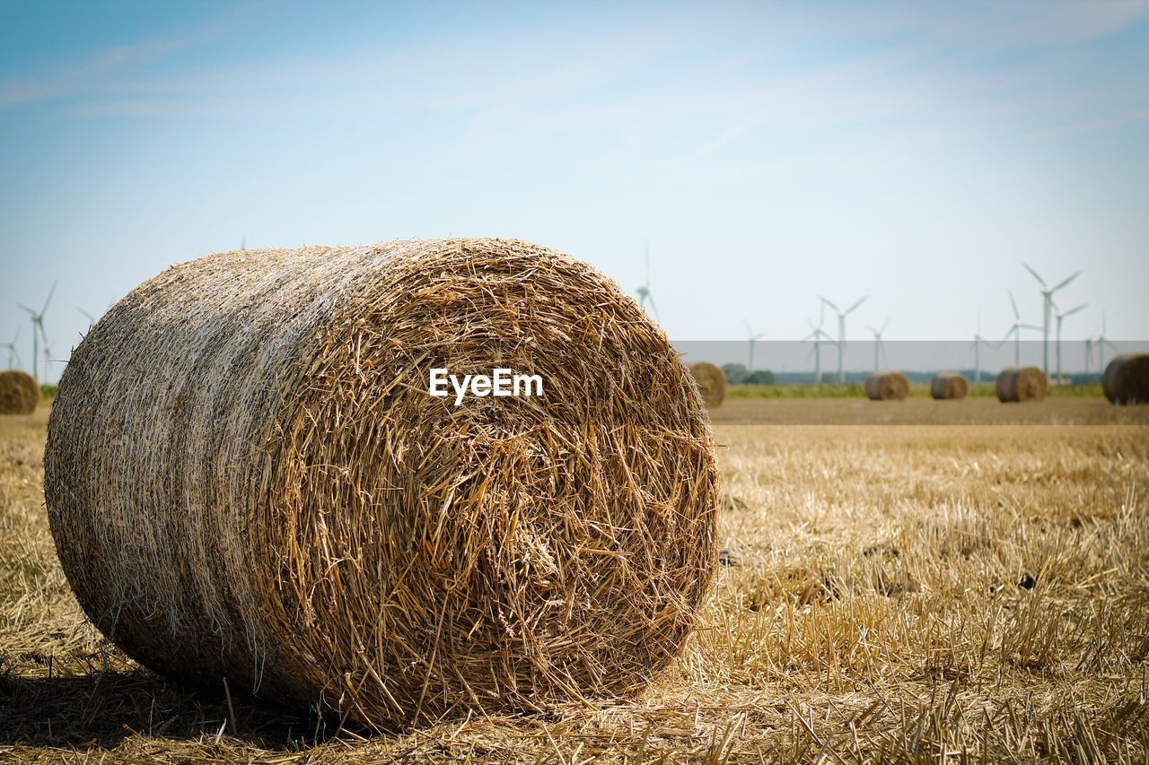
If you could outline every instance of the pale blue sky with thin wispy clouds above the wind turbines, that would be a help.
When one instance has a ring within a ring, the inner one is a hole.
[[[0,342],[59,279],[59,358],[241,240],[442,235],[632,293],[649,242],[674,339],[796,339],[818,293],[1000,338],[1021,260],[1084,270],[1067,338],[1149,337],[1143,1],[5,3],[0,169]]]

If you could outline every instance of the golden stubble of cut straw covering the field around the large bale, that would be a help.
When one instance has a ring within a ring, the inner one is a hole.
[[[44,426],[0,418],[0,759],[1149,758],[1143,425],[719,424],[741,565],[641,700],[367,740],[173,688],[93,635],[47,531]]]

